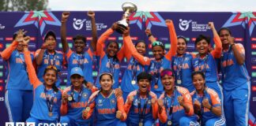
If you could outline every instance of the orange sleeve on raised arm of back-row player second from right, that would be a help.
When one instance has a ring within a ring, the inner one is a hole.
[[[214,58],[219,58],[219,57],[221,57],[221,51],[222,51],[222,43],[221,43],[219,35],[215,36],[213,38],[213,41],[215,43],[215,48],[211,52],[211,54],[213,54]]]

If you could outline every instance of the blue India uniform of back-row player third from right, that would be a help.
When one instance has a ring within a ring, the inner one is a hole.
[[[175,83],[181,87],[186,87],[190,92],[194,91],[191,73],[193,72],[192,59],[194,54],[185,53],[182,57],[172,57],[171,69],[175,72]]]

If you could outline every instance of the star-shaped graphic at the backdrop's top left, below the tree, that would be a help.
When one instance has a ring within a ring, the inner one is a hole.
[[[24,16],[15,24],[14,28],[30,24],[34,24],[36,28],[39,28],[41,35],[43,35],[43,30],[47,24],[61,26],[61,22],[53,13],[42,10],[25,12]]]

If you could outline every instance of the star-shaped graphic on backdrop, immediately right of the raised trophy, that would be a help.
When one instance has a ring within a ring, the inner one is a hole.
[[[137,24],[142,30],[142,23],[145,22],[146,28],[151,28],[152,25],[166,27],[165,20],[159,13],[153,12],[136,12],[130,15],[130,24]]]

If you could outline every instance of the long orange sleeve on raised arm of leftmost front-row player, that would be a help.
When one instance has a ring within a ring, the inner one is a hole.
[[[28,50],[24,51],[24,61],[27,65],[28,78],[30,83],[33,84],[33,88],[36,89],[42,82],[37,78],[36,71],[32,65],[32,59]]]

